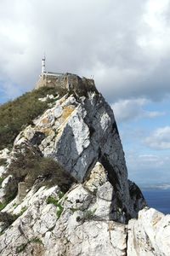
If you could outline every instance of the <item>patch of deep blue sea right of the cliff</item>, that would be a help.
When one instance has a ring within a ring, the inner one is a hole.
[[[170,214],[170,189],[141,189],[149,207]]]

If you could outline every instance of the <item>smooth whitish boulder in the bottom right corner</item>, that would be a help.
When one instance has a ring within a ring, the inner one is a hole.
[[[170,255],[170,215],[144,208],[128,223],[128,256]]]

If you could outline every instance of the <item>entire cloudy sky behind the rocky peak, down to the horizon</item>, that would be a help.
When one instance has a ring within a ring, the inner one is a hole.
[[[48,71],[94,76],[129,178],[170,183],[170,0],[1,0],[0,103]]]

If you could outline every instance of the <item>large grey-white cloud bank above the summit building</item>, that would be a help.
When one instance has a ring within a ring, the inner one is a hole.
[[[169,1],[2,0],[0,76],[33,88],[48,70],[94,75],[109,102],[169,93]],[[8,90],[8,89],[7,89]]]

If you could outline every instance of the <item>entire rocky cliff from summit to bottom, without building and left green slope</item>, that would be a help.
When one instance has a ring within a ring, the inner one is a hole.
[[[94,84],[77,77],[0,159],[2,255],[169,255],[170,218],[127,180],[114,114]]]

